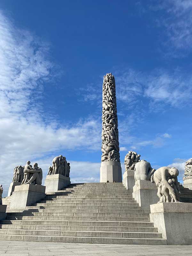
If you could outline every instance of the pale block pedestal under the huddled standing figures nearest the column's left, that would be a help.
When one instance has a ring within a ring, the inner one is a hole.
[[[60,189],[66,188],[71,184],[70,178],[61,174],[47,175],[45,180],[45,193],[54,193]]]

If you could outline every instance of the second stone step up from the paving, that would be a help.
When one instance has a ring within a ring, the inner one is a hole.
[[[32,235],[32,236],[94,236],[94,237],[132,237],[162,238],[160,233],[149,232],[115,232],[115,231],[77,231],[77,230],[32,230],[32,229],[0,229],[0,234]]]

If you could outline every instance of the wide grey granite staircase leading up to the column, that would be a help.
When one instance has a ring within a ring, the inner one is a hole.
[[[8,210],[0,240],[167,244],[122,183],[72,184],[25,210]]]

